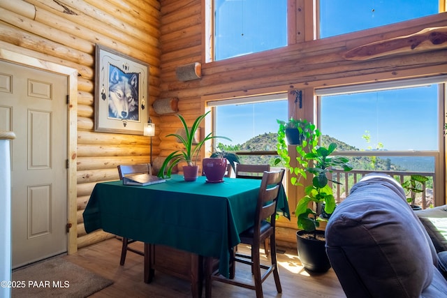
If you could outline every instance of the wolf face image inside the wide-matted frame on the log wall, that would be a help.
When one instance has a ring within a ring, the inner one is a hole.
[[[138,73],[109,64],[108,118],[138,121]]]

